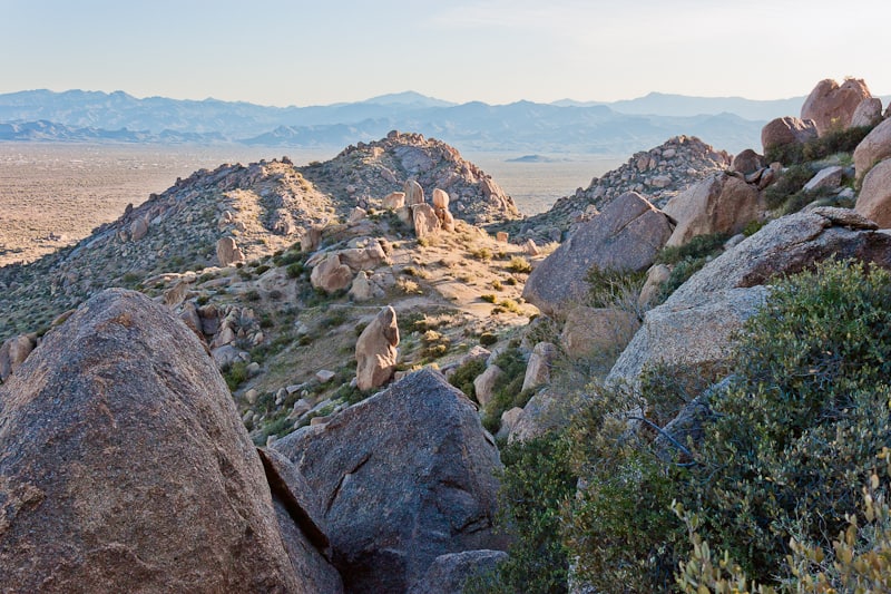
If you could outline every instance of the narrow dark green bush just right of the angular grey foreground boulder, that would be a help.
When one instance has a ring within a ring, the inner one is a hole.
[[[560,542],[560,508],[576,489],[569,444],[549,434],[503,449],[498,525],[516,539],[510,558],[489,575],[471,578],[466,593],[559,594],[569,562]]]

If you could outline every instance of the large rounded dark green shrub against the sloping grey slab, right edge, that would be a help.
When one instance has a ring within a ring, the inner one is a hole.
[[[891,440],[891,275],[820,264],[779,283],[745,328],[694,496],[705,537],[770,582],[791,535],[831,547]]]

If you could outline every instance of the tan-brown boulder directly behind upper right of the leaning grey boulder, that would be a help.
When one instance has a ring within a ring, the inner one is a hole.
[[[757,186],[717,174],[673,198],[663,212],[677,222],[667,245],[684,245],[696,235],[740,233],[762,212]]]

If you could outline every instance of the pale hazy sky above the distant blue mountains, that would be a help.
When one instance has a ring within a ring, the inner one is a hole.
[[[0,92],[500,105],[780,99],[853,76],[891,95],[889,17],[888,0],[0,0]]]

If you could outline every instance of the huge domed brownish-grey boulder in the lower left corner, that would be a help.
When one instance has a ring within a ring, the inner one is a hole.
[[[7,592],[315,592],[204,347],[109,290],[0,387]]]

